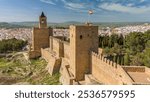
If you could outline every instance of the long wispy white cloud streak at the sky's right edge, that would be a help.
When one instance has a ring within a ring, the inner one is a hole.
[[[131,6],[124,6],[121,4],[115,3],[103,3],[99,5],[99,8],[108,10],[108,11],[118,11],[118,12],[125,12],[125,13],[134,13],[134,14],[142,14],[150,12],[150,7],[141,6],[141,7],[131,7]]]

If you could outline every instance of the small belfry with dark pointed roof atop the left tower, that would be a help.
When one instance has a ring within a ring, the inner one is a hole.
[[[41,16],[39,17],[39,21],[39,28],[47,27],[47,17],[45,16],[44,12],[42,12]]]

